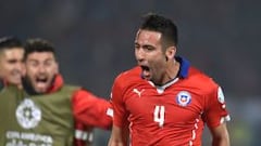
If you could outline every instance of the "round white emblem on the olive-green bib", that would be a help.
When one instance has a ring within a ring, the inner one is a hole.
[[[16,108],[16,119],[24,129],[36,128],[41,120],[41,110],[32,99],[26,98]]]

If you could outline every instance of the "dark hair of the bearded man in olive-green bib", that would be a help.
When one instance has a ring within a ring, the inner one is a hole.
[[[51,52],[55,55],[54,47],[52,45],[52,43],[41,38],[26,40],[24,48],[25,48],[24,61],[30,53],[34,52]]]

